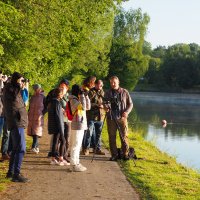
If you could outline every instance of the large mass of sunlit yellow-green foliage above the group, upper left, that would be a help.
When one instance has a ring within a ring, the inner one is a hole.
[[[5,73],[20,71],[45,89],[62,77],[77,82],[107,75],[113,0],[4,0],[0,6]]]

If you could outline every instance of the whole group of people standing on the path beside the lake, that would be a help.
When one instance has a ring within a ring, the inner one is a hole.
[[[129,92],[121,88],[117,76],[110,78],[110,89],[104,93],[103,81],[91,76],[82,85],[72,85],[69,94],[69,81],[63,79],[59,85],[45,97],[40,84],[34,84],[34,94],[29,101],[23,98],[24,78],[14,72],[11,80],[5,84],[2,94],[3,113],[7,130],[10,133],[9,169],[7,178],[14,182],[27,182],[20,174],[22,160],[26,151],[24,130],[32,136],[31,151],[39,153],[39,137],[42,136],[44,115],[48,113],[48,133],[50,142],[51,165],[70,165],[74,172],[83,172],[87,168],[80,163],[80,153],[105,155],[101,149],[102,127],[107,121],[110,161],[119,159],[116,135],[119,131],[123,159],[128,159],[128,123],[127,117],[133,108]],[[70,113],[70,117],[69,117]],[[3,156],[3,154],[2,154]]]

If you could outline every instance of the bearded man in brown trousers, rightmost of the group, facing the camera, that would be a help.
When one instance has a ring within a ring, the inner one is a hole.
[[[133,108],[133,102],[129,92],[119,86],[119,78],[112,76],[110,78],[110,87],[105,94],[107,102],[107,128],[109,135],[109,145],[111,151],[110,161],[118,159],[116,144],[116,134],[119,131],[121,140],[121,149],[124,160],[128,159],[128,115]]]

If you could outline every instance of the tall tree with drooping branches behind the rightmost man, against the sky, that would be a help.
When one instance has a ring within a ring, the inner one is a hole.
[[[117,75],[121,85],[130,90],[148,67],[148,56],[142,54],[148,23],[149,17],[140,9],[119,10],[115,18],[109,76]]]

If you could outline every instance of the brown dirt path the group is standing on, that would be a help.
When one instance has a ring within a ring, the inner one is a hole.
[[[138,194],[116,162],[108,161],[110,155],[81,156],[86,172],[70,172],[69,166],[52,166],[47,158],[50,137],[44,132],[40,139],[40,153],[27,153],[22,174],[31,179],[28,183],[12,183],[0,194],[1,200],[135,200]]]

